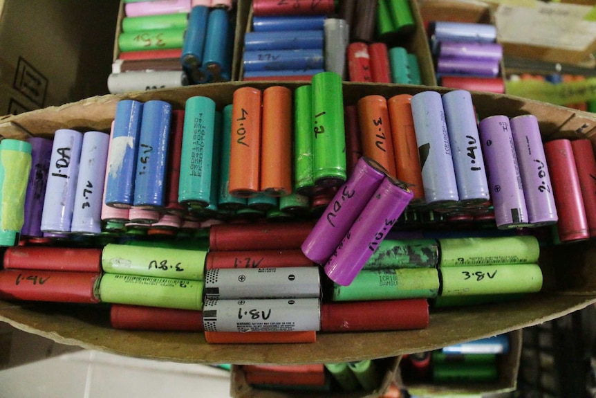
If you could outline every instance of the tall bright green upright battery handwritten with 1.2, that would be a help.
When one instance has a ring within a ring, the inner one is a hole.
[[[313,75],[313,177],[315,186],[340,186],[346,181],[346,131],[342,76]]]

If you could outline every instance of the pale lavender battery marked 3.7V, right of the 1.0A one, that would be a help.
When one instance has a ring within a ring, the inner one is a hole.
[[[71,232],[93,235],[102,232],[102,198],[109,144],[109,134],[83,134]]]

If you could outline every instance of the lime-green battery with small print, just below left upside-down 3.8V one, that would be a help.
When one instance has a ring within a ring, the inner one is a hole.
[[[100,300],[147,307],[203,308],[203,281],[104,273]]]

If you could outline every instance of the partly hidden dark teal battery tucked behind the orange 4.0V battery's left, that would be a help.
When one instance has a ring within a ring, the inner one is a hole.
[[[223,108],[219,155],[218,208],[239,210],[246,207],[246,198],[230,195],[230,147],[232,145],[232,104]]]

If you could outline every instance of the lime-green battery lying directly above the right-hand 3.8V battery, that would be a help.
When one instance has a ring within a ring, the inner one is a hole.
[[[533,236],[438,239],[440,266],[533,264],[540,247]]]

